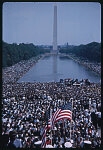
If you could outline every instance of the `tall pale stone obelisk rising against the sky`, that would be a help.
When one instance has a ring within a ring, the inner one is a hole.
[[[53,50],[57,51],[57,5],[54,5]]]

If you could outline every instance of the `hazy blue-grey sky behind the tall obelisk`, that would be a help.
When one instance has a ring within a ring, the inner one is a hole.
[[[3,4],[3,41],[51,45],[52,2],[6,2]],[[96,2],[57,3],[58,44],[101,42],[101,5]]]

